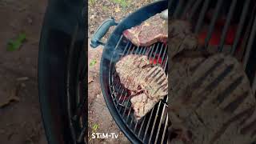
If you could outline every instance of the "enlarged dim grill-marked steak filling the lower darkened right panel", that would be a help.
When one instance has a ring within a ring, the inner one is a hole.
[[[254,142],[255,98],[240,63],[226,54],[188,53],[170,62],[171,143]]]

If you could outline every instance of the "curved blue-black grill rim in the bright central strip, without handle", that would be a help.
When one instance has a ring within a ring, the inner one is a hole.
[[[109,70],[105,70],[106,66],[110,66],[110,59],[107,57],[112,57],[114,55],[114,48],[117,46],[118,40],[122,36],[122,31],[129,29],[132,26],[136,26],[139,23],[145,21],[147,18],[150,18],[154,14],[160,13],[163,10],[166,10],[168,6],[168,1],[162,0],[150,3],[149,5],[143,6],[142,8],[136,10],[134,13],[128,15],[126,18],[122,20],[115,27],[112,34],[110,34],[110,38],[106,41],[106,46],[102,52],[102,58],[100,62],[100,83],[102,88],[102,94],[106,102],[106,106],[110,111],[111,116],[114,118],[114,122],[118,125],[119,129],[122,130],[123,134],[126,135],[126,138],[130,140],[132,143],[142,143],[134,134],[131,132],[129,127],[126,126],[126,123],[123,122],[122,117],[118,114],[118,109],[114,106],[113,98],[111,98],[110,90],[109,90]],[[139,17],[142,15],[143,17]],[[147,15],[145,15],[147,14]],[[106,54],[110,54],[110,56],[106,56]],[[109,68],[109,67],[108,67]]]

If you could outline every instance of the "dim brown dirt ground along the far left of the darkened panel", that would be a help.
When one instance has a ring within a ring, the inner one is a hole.
[[[38,102],[38,40],[46,0],[0,1],[0,142],[46,144]],[[26,34],[19,50],[7,43]]]

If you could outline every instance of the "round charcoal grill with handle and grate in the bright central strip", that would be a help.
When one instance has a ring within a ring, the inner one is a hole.
[[[160,42],[149,47],[134,46],[122,36],[122,31],[166,10],[167,4],[167,1],[151,3],[130,14],[119,24],[114,22],[114,18],[107,19],[102,23],[102,26],[99,26],[91,40],[91,46],[97,47],[102,44],[100,39],[106,34],[109,27],[117,25],[107,40],[102,53],[101,86],[110,114],[112,114],[119,128],[126,134],[126,137],[133,143],[167,142],[167,96],[161,102],[158,102],[154,109],[146,114],[146,117],[136,121],[134,110],[131,108],[130,94],[118,81],[114,64],[127,54],[147,55],[152,63],[162,66],[167,73],[168,46]]]

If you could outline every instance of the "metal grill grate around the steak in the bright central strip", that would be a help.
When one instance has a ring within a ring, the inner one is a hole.
[[[166,143],[167,142],[167,96],[158,102],[154,108],[140,120],[134,119],[129,91],[118,81],[114,65],[118,59],[127,54],[147,55],[154,65],[161,65],[167,73],[167,45],[155,43],[150,47],[138,47],[131,44],[126,38],[121,37],[115,47],[113,58],[110,61],[110,92],[118,114],[123,122],[143,143]],[[115,59],[114,58],[118,58]],[[158,63],[155,63],[158,62]]]

